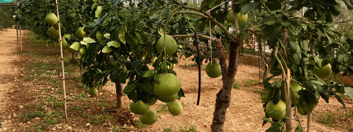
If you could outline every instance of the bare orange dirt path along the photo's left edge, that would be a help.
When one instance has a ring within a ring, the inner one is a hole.
[[[22,31],[22,37],[26,37],[27,31]],[[4,42],[17,42],[16,29],[7,29],[7,31],[0,32],[0,121],[2,123],[2,130],[7,130],[7,127],[13,126],[13,111],[22,108],[21,106],[12,105],[12,98],[10,94],[19,90],[16,82],[17,77],[22,75],[20,70],[23,70],[20,65],[15,65],[14,62],[21,62],[19,55],[13,54],[16,52],[17,43],[4,43]],[[16,129],[11,129],[13,131]]]

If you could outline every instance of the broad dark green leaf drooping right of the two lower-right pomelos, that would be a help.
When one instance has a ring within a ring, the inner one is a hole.
[[[318,100],[312,92],[308,90],[300,90],[301,94],[299,97],[299,102],[297,104],[298,112],[301,115],[307,115],[308,112],[312,112],[315,108]]]

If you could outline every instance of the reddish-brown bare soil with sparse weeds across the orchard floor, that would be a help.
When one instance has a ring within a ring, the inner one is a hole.
[[[37,44],[32,36],[23,33],[23,48],[20,52],[16,43],[16,30],[8,29],[0,32],[0,131],[77,131],[77,132],[109,132],[112,126],[120,126],[122,131],[127,132],[160,132],[172,128],[172,131],[182,131],[180,126],[195,125],[198,132],[209,132],[215,109],[216,94],[222,87],[221,77],[210,78],[202,70],[202,88],[200,105],[196,105],[198,94],[198,71],[195,62],[191,59],[179,59],[174,69],[181,80],[185,98],[183,113],[178,116],[165,112],[165,103],[157,101],[151,106],[158,112],[158,120],[149,126],[139,125],[138,115],[130,113],[128,105],[130,101],[125,96],[125,107],[116,109],[115,85],[108,82],[106,86],[98,90],[98,96],[89,97],[84,92],[85,88],[79,80],[80,71],[76,63],[65,63],[66,88],[70,92],[67,96],[67,120],[63,114],[63,107],[54,107],[53,104],[60,103],[59,87],[55,66],[55,54],[53,46],[46,47],[45,44]],[[70,53],[65,53],[65,59],[70,59]],[[45,70],[35,67],[44,64]],[[206,64],[205,64],[206,65]],[[59,68],[60,69],[60,68]],[[78,70],[76,78],[74,74]],[[40,74],[34,74],[38,72]],[[225,132],[264,132],[270,124],[262,126],[262,118],[265,116],[263,103],[260,96],[263,86],[259,83],[249,85],[247,81],[256,82],[259,80],[259,69],[256,66],[239,64],[235,80],[240,84],[239,89],[233,89],[231,103],[227,111]],[[346,82],[352,82],[352,78],[345,77]],[[84,97],[82,97],[85,95]],[[54,101],[48,103],[48,98],[53,97]],[[347,108],[331,97],[329,103],[323,99],[319,100],[315,107],[312,121],[312,132],[351,132],[353,119],[347,113],[353,111],[351,99],[343,99]],[[43,103],[44,102],[44,103]],[[46,103],[47,102],[47,103]],[[164,106],[164,108],[163,108]],[[82,109],[74,109],[82,108]],[[38,116],[25,120],[28,113],[51,112],[59,117]],[[163,112],[164,111],[164,112]],[[16,116],[14,115],[16,114]],[[294,108],[293,108],[294,114]],[[306,116],[299,115],[301,124],[306,131]],[[323,120],[332,122],[323,124]],[[57,120],[57,124],[43,125],[48,119]],[[293,127],[297,121],[293,120]],[[42,124],[41,124],[42,123]],[[89,124],[87,124],[89,123]],[[333,125],[330,125],[333,124]],[[118,131],[118,130],[117,130]]]

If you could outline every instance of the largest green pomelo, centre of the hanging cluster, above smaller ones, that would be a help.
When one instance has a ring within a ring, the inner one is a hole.
[[[160,83],[154,82],[153,90],[157,96],[167,97],[179,92],[181,82],[177,76],[170,73],[162,73],[158,75]]]

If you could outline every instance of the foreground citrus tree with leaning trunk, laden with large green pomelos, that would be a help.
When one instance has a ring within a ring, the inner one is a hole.
[[[194,40],[196,46],[198,42],[208,44],[209,40],[212,44],[209,49],[214,52],[204,54],[196,62],[209,60],[207,74],[222,75],[223,87],[216,95],[211,130],[223,132],[238,69],[239,47],[249,34],[255,34],[273,51],[269,71],[272,76],[264,81],[265,90],[261,95],[266,112],[264,124],[271,123],[268,131],[292,130],[292,104],[298,113],[306,115],[312,112],[320,97],[328,102],[329,96],[334,95],[345,107],[336,93],[352,98],[353,89],[326,78],[331,72],[343,71],[343,75],[349,76],[353,72],[353,41],[338,41],[341,34],[335,30],[334,23],[342,6],[353,8],[352,0],[232,0],[228,3],[204,0],[199,7],[191,7],[178,0],[82,1],[80,6],[73,7],[82,8],[75,11],[90,17],[81,21],[86,25],[79,25],[76,42],[70,48],[79,51],[80,65],[85,68],[83,83],[96,94],[96,88],[108,80],[115,82],[118,103],[126,94],[133,101],[130,110],[140,114],[142,123],[153,124],[157,115],[149,110],[149,105],[157,99],[172,102],[168,109],[174,115],[182,111],[174,101],[183,97],[184,92],[173,64],[178,63],[177,49],[183,50],[185,57],[196,52],[187,47],[178,48],[178,44],[195,36],[199,38]],[[305,13],[301,17],[298,14],[303,8]],[[245,17],[255,10],[266,14],[258,16],[261,20],[258,24],[246,25]],[[188,16],[200,18],[192,20]],[[195,23],[199,23],[198,27]],[[225,26],[228,23],[234,24],[234,32]],[[328,49],[344,52],[331,54],[333,51]],[[229,52],[228,64],[225,50]],[[219,62],[213,62],[216,59]],[[275,80],[276,76],[282,79]],[[126,84],[124,90],[122,84]],[[300,120],[296,116],[295,119],[299,121],[296,130],[301,131]]]

